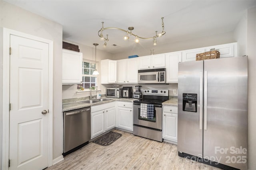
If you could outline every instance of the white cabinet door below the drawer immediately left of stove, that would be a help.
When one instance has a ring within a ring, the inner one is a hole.
[[[133,130],[132,109],[118,107],[117,114],[118,114],[118,127],[132,131]]]

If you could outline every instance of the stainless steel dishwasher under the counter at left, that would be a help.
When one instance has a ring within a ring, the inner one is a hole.
[[[63,156],[87,145],[91,139],[91,108],[85,107],[64,112]]]

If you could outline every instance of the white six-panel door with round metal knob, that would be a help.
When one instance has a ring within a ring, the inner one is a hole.
[[[48,166],[47,43],[10,35],[11,170]],[[47,112],[45,112],[47,113]]]

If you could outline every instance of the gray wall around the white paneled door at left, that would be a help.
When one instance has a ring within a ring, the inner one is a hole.
[[[23,33],[28,33],[30,35],[43,37],[54,42],[53,158],[56,158],[62,154],[62,25],[23,10],[22,8],[18,8],[2,0],[0,1],[0,15],[0,27],[6,27]],[[2,76],[0,78],[0,82],[2,82]],[[2,114],[2,111],[0,111],[0,114]],[[0,155],[2,155],[2,147]]]

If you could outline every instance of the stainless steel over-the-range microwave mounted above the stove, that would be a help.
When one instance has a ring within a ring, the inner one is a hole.
[[[138,83],[166,83],[166,68],[138,70]]]

